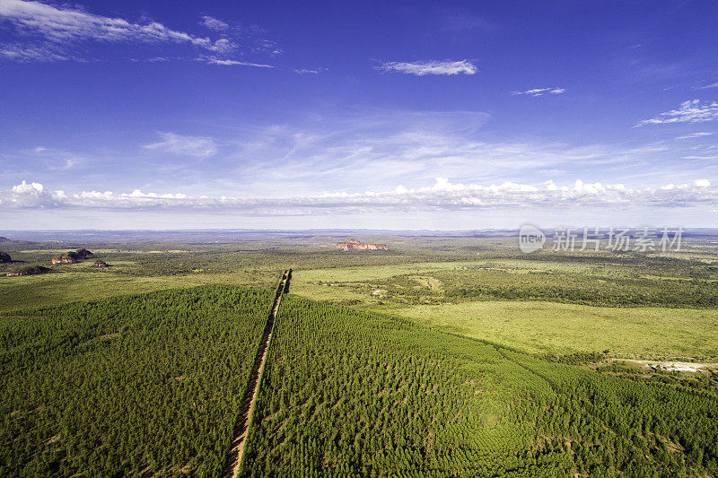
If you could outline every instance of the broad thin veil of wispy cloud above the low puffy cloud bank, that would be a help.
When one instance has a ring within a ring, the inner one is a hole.
[[[38,143],[31,143],[0,150],[0,160],[13,184],[32,178],[81,190],[86,188],[83,178],[98,178],[93,187],[132,191],[152,185],[151,190],[194,196],[393,190],[398,184],[420,187],[437,176],[482,185],[531,184],[537,178],[556,184],[575,178],[612,183],[620,178],[652,187],[667,178],[675,183],[718,178],[718,163],[708,159],[718,151],[713,143],[671,137],[632,144],[497,140],[483,127],[489,120],[477,111],[372,109],[300,115],[285,124],[192,130],[191,135],[160,130],[152,141],[144,137],[139,151],[135,142],[124,151],[96,148],[70,155],[57,143],[42,143],[37,151],[32,148]],[[67,167],[81,167],[83,175]]]

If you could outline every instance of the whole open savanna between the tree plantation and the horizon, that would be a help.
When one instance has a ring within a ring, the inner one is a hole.
[[[85,261],[52,266],[51,274],[0,277],[0,314],[208,283],[271,289],[279,271],[293,267],[293,294],[526,352],[718,355],[718,254],[710,247],[670,256],[524,256],[493,239],[402,238],[394,248],[388,237],[380,240],[389,251],[343,253],[328,247],[331,240],[276,239],[265,248],[258,241],[89,246],[110,267],[97,270]],[[48,265],[62,250],[22,245],[13,258]],[[148,253],[154,251],[164,252]]]

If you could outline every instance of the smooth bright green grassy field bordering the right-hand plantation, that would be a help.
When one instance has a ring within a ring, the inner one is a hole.
[[[614,357],[692,357],[718,352],[718,310],[606,308],[541,301],[408,306],[393,314],[525,352],[609,351]]]

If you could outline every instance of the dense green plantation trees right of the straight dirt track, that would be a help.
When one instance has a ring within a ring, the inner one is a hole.
[[[718,473],[718,396],[289,298],[243,476]]]

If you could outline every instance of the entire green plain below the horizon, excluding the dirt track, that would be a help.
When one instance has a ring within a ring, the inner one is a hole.
[[[390,250],[311,235],[3,243],[16,262],[0,273],[48,273],[0,276],[0,471],[222,475],[292,268],[242,476],[718,473],[714,238],[532,255],[503,236],[360,239]],[[109,266],[48,264],[80,247]]]

